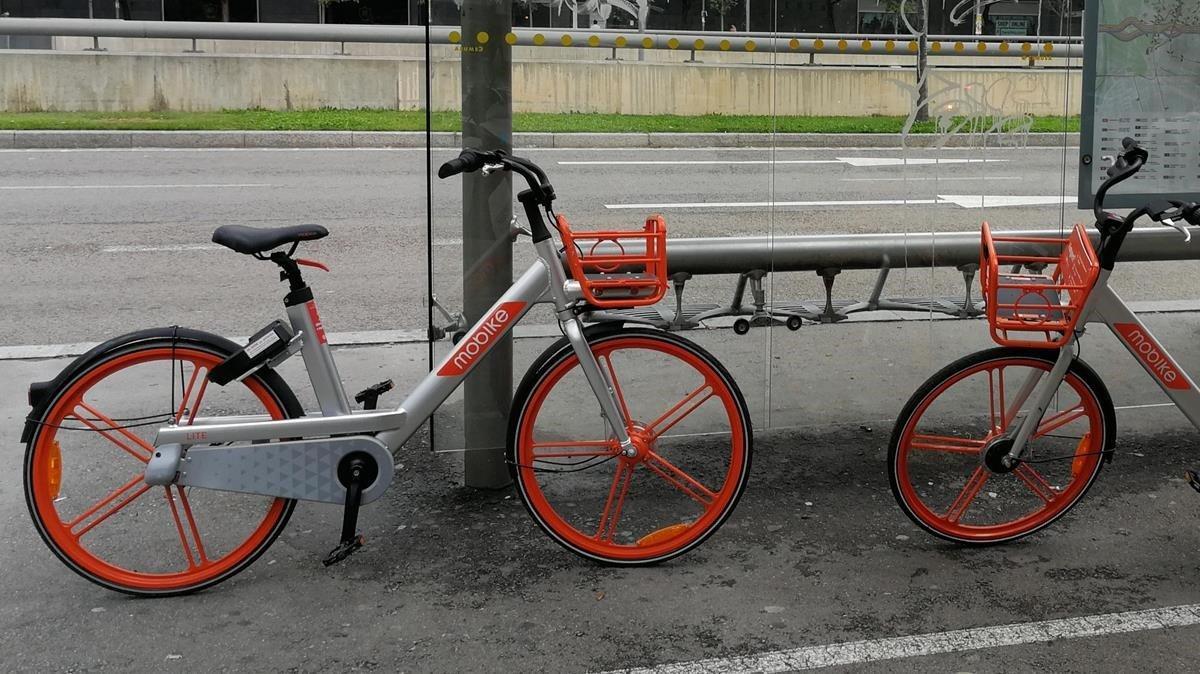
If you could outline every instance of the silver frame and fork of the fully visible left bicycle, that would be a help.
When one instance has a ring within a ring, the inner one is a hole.
[[[508,335],[538,303],[552,302],[559,324],[592,387],[613,437],[623,451],[632,449],[628,421],[617,403],[612,384],[600,371],[583,335],[574,307],[582,297],[580,285],[566,278],[553,239],[534,242],[538,260],[475,323],[467,335],[391,411],[353,411],[337,366],[325,338],[316,302],[288,307],[288,319],[301,339],[301,354],[320,416],[266,421],[264,416],[196,417],[158,429],[155,446],[180,444],[250,443],[282,438],[316,438],[341,434],[376,434],[396,453],[463,379],[484,360],[491,345]]]

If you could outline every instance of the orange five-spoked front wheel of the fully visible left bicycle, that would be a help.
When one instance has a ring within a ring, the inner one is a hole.
[[[514,399],[509,462],[534,520],[568,549],[654,564],[703,542],[737,505],[751,427],[733,378],[698,345],[658,330],[589,332],[638,449],[613,439],[565,339]]]

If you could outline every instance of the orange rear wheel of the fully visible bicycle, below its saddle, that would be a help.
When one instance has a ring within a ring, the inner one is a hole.
[[[66,384],[25,453],[34,523],[73,571],[134,595],[172,595],[220,583],[248,566],[283,530],[295,501],[152,487],[143,471],[154,433],[199,415],[301,414],[271,372],[209,385],[236,347],[209,336],[115,348]]]

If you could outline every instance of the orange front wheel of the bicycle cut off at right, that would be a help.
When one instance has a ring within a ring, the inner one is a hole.
[[[926,531],[959,543],[1028,536],[1074,506],[1112,450],[1116,415],[1099,377],[1076,360],[1013,469],[1004,438],[1057,351],[990,349],[931,377],[900,413],[888,451],[892,493]],[[989,457],[989,453],[994,455]],[[991,458],[992,461],[989,461]]]

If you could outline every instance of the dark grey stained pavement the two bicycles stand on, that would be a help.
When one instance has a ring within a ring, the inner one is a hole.
[[[1200,369],[1200,314],[1142,318],[1182,367]],[[37,538],[20,485],[24,387],[67,361],[0,362],[8,467],[0,473],[0,661],[10,670],[594,672],[1200,601],[1200,497],[1181,479],[1200,457],[1177,410],[1118,413],[1116,461],[1046,532],[964,549],[900,513],[884,456],[892,419],[919,381],[990,344],[982,323],[688,336],[730,367],[758,432],[746,497],[684,558],[634,570],[575,559],[529,522],[511,491],[462,487],[461,455],[431,453],[422,434],[402,450],[390,493],[364,510],[367,547],[346,562],[319,564],[341,513],[301,504],[238,578],[154,601],[92,586]],[[516,372],[546,343],[518,341]],[[1118,348],[1096,330],[1082,354],[1117,405],[1162,402]],[[352,390],[383,377],[404,390],[427,368],[422,344],[342,348],[337,360]],[[311,407],[298,361],[283,374]],[[390,393],[382,405],[398,399]],[[460,399],[444,409],[450,423]],[[767,429],[768,409],[778,429]],[[1184,672],[1198,637],[1200,628],[1184,627],[866,670],[1093,672],[1104,662]]]

